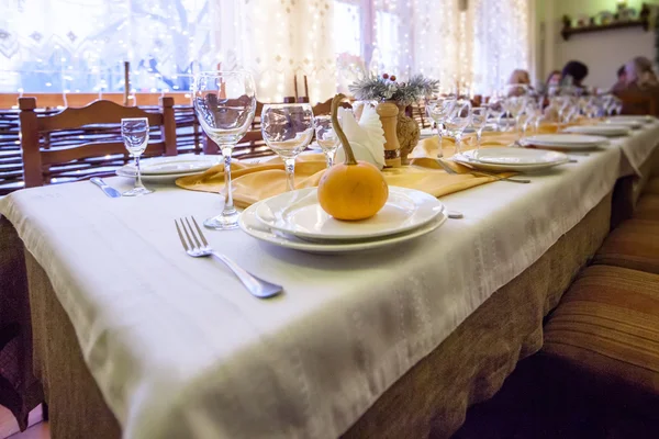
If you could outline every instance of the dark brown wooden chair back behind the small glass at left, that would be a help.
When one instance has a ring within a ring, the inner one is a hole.
[[[23,176],[25,187],[38,187],[47,182],[56,172],[69,171],[69,179],[83,179],[93,175],[76,178],[85,170],[99,166],[116,166],[116,156],[127,160],[127,151],[121,142],[120,124],[126,117],[146,117],[149,126],[159,127],[159,139],[152,142],[146,148],[146,156],[177,155],[176,120],[174,99],[160,99],[160,112],[146,112],[136,106],[122,106],[110,101],[96,101],[87,106],[68,108],[52,115],[35,113],[36,99],[20,98],[21,148],[23,153]],[[110,132],[108,130],[111,130]],[[101,134],[99,134],[101,133]],[[64,142],[58,146],[53,139],[63,136],[77,136],[81,142],[72,144]],[[90,140],[99,142],[90,142]],[[114,156],[113,162],[93,161]],[[55,172],[51,168],[56,169]],[[112,171],[105,171],[110,173]],[[47,178],[46,178],[47,176]]]

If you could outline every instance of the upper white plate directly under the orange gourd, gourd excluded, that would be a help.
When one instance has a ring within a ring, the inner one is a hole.
[[[316,188],[284,192],[259,203],[256,215],[267,227],[314,240],[372,239],[401,234],[437,218],[444,205],[414,189],[389,187],[389,199],[375,216],[339,221],[321,207]]]

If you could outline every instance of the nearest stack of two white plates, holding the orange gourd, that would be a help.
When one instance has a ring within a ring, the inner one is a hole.
[[[345,254],[404,243],[428,234],[446,221],[433,195],[389,187],[389,200],[371,218],[346,222],[321,207],[316,188],[300,189],[260,201],[239,218],[248,235],[276,246],[315,254]]]

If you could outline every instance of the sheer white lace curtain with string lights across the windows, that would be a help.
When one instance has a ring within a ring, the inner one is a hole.
[[[489,92],[528,66],[528,1],[0,0],[0,92],[123,91],[126,60],[136,91],[220,66],[254,71],[261,101],[369,70]]]

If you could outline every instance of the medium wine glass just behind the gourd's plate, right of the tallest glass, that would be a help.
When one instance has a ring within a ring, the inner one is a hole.
[[[313,112],[308,103],[264,105],[264,140],[281,157],[286,166],[288,190],[295,190],[295,157],[306,148],[314,132]]]

